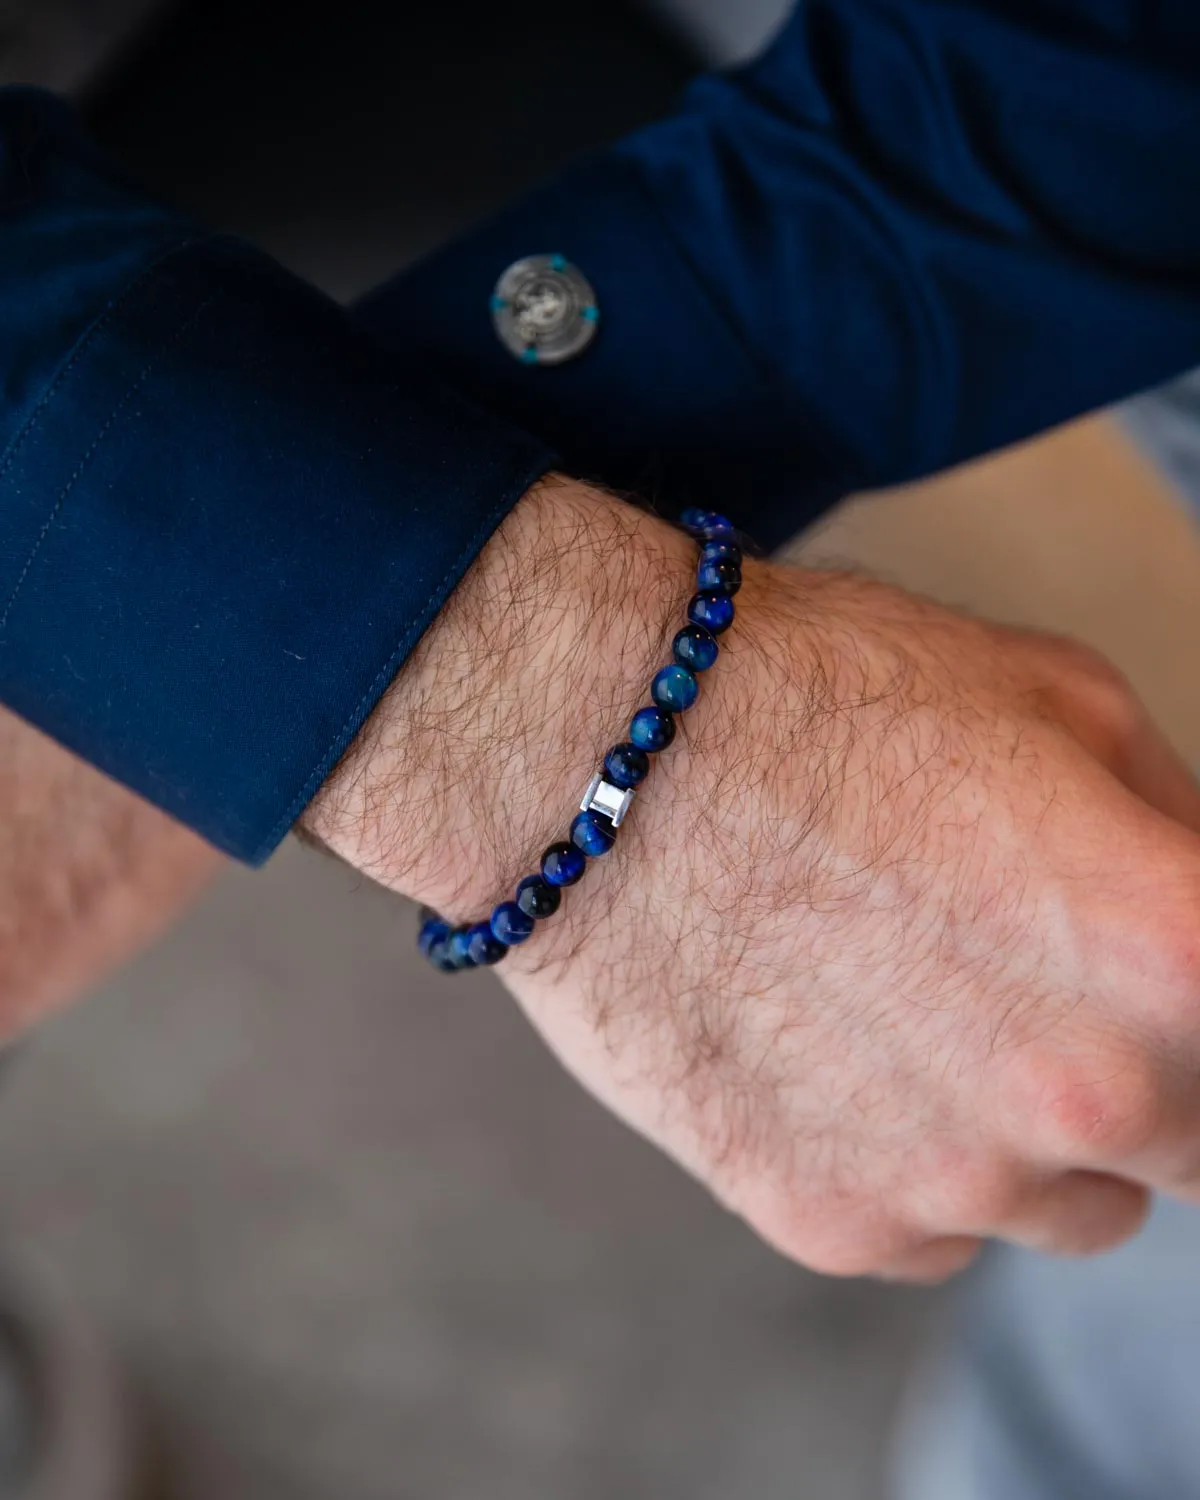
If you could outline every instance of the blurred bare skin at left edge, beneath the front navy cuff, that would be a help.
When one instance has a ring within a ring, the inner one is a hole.
[[[0,708],[0,1041],[147,944],[222,864]]]

